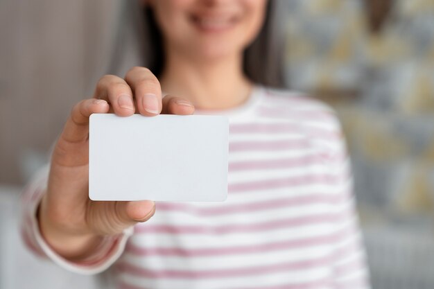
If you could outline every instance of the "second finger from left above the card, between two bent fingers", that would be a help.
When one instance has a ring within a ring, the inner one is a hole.
[[[107,100],[113,112],[119,116],[134,114],[131,88],[125,80],[118,76],[103,76],[96,85],[94,97]]]

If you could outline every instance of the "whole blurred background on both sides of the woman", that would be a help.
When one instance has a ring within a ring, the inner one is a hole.
[[[17,211],[105,74],[120,4],[0,1],[0,288],[96,286],[26,252]],[[372,288],[434,288],[434,1],[284,6],[288,87],[331,104],[347,137]]]

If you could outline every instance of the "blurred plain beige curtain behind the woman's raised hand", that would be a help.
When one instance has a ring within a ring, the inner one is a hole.
[[[107,67],[121,0],[0,1],[0,184],[24,182]]]

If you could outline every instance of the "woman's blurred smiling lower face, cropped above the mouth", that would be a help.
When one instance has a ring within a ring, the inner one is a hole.
[[[200,60],[241,53],[261,29],[266,0],[153,0],[166,49]]]

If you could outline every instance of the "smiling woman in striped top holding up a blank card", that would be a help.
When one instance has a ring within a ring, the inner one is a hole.
[[[136,28],[149,37],[138,47],[150,69],[103,76],[73,108],[49,173],[25,195],[29,247],[83,274],[115,263],[119,288],[366,288],[338,121],[315,100],[259,85],[281,83],[260,49],[273,4],[141,3],[148,30]],[[226,202],[89,200],[92,113],[195,108],[229,116]]]

